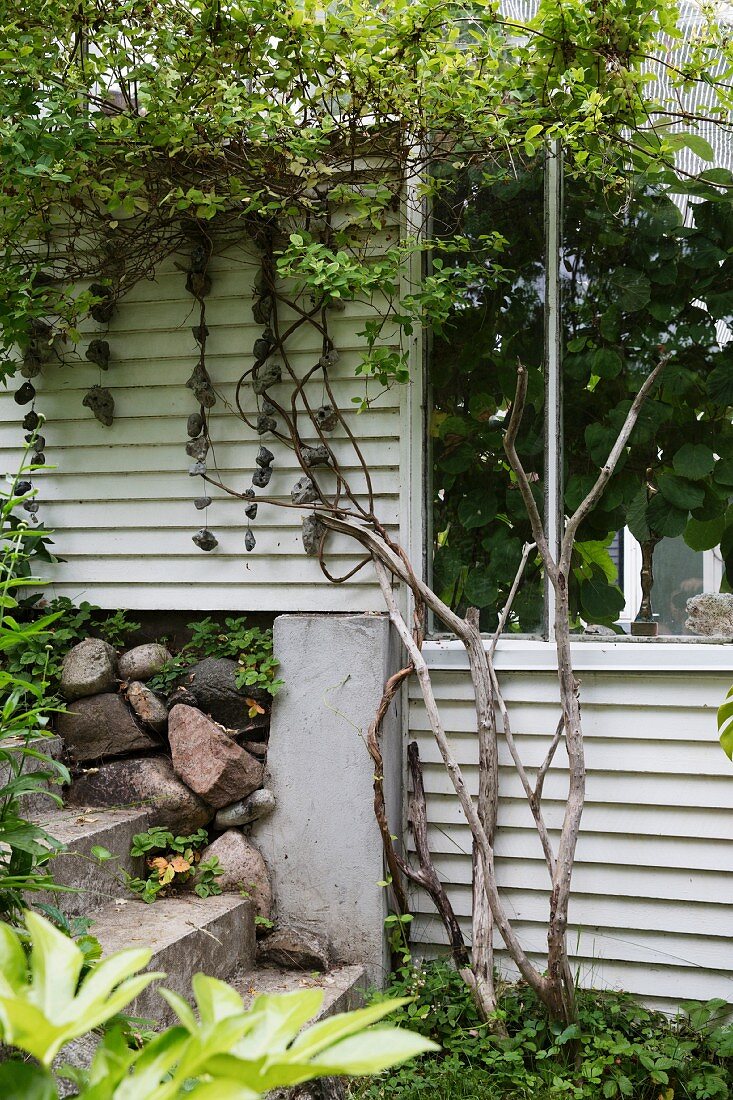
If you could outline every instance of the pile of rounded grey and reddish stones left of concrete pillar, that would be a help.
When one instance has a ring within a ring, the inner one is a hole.
[[[169,660],[165,646],[152,642],[118,659],[99,638],[67,653],[61,684],[67,710],[58,721],[76,769],[67,802],[142,806],[151,826],[178,834],[212,827],[221,835],[204,858],[218,856],[221,888],[249,893],[266,922],[270,876],[241,829],[275,806],[263,789],[269,715],[249,718],[237,663],[223,658],[200,661],[165,698],[147,682]]]

